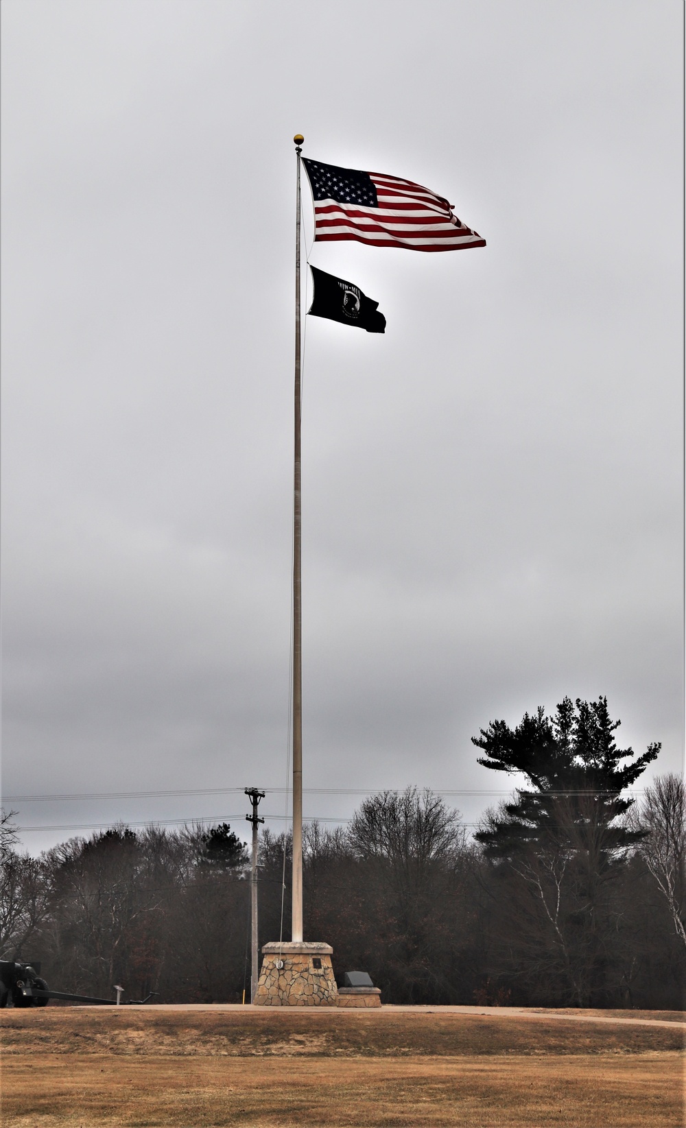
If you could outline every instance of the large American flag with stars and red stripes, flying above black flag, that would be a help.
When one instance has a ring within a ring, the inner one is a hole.
[[[461,250],[486,240],[452,214],[452,204],[398,176],[360,173],[302,158],[315,199],[315,241],[357,239],[371,247]]]

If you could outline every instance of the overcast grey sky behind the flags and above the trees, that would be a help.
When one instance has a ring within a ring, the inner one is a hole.
[[[469,738],[565,694],[680,769],[681,20],[3,0],[6,795],[284,784],[297,131],[487,241],[311,250],[388,325],[307,326],[306,788],[507,791]]]

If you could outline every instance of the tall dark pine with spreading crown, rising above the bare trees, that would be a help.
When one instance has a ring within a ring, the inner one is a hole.
[[[634,802],[623,792],[660,744],[642,756],[617,748],[618,726],[606,697],[575,705],[565,697],[553,716],[538,708],[516,729],[493,721],[473,738],[486,754],[480,764],[521,773],[531,785],[489,811],[475,837],[504,910],[499,958],[514,985],[535,993],[547,984],[548,1003],[607,1005],[625,970],[615,879],[643,834],[621,819]]]

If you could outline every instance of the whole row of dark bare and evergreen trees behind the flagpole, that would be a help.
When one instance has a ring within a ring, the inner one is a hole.
[[[387,1003],[681,1008],[684,782],[628,797],[659,744],[619,749],[617,726],[605,698],[492,722],[480,763],[518,786],[473,836],[416,787],[369,796],[346,827],[307,825],[306,935]],[[80,994],[249,997],[249,860],[228,825],[120,825],[38,858],[12,827],[5,816],[2,959],[39,960],[51,987]],[[261,945],[290,938],[290,849],[261,832]]]

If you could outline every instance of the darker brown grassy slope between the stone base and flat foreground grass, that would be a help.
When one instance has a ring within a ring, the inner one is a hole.
[[[574,1012],[577,1016],[579,1012]],[[626,1015],[626,1012],[623,1012]],[[684,1025],[456,1012],[176,1007],[5,1011],[3,1054],[401,1057],[643,1054],[684,1048]]]

